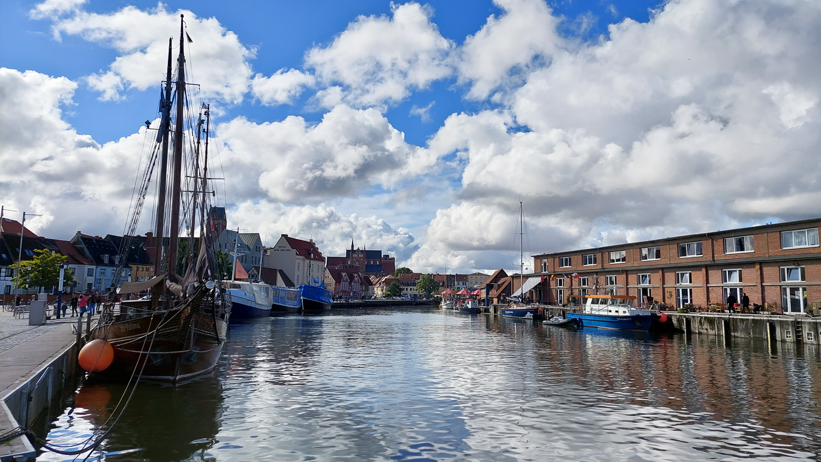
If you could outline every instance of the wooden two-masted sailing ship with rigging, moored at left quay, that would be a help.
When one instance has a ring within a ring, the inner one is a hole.
[[[210,111],[208,105],[195,103],[186,90],[185,35],[181,16],[176,79],[172,73],[173,39],[169,39],[158,135],[149,149],[148,162],[143,163],[140,189],[129,210],[119,258],[115,259],[118,268],[112,288],[119,285],[117,291],[121,295],[141,292],[149,295],[141,300],[104,304],[97,324],[89,332],[90,339],[112,345],[111,363],[96,372],[108,377],[161,382],[197,377],[213,369],[226,341],[231,296],[218,270],[214,250],[216,231],[213,226],[204,226],[206,206],[214,190],[208,176]],[[200,108],[199,117],[186,113],[186,108],[191,107]],[[150,128],[151,122],[146,125]],[[200,149],[202,135],[204,149]],[[170,143],[173,145],[169,152]],[[155,167],[159,167],[156,178]],[[168,181],[171,181],[170,188]],[[152,224],[155,225],[154,274],[157,276],[121,285],[120,277],[126,273],[122,267],[135,239],[146,194],[149,187],[153,190],[155,185],[156,222]],[[188,194],[184,201],[181,200],[183,193]],[[170,205],[167,206],[167,202]],[[195,237],[197,223],[199,237]],[[183,227],[189,236],[180,236]],[[183,243],[187,245],[181,246]],[[113,291],[110,295],[109,300],[114,298]]]

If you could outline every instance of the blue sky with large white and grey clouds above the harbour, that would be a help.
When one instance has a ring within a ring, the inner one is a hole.
[[[821,213],[807,2],[8,1],[0,203],[41,234],[125,221],[178,10],[234,226],[469,271],[519,200],[532,252]]]

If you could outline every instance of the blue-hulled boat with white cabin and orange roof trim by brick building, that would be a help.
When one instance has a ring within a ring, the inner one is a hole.
[[[567,318],[578,319],[582,327],[649,331],[658,315],[649,309],[637,309],[634,303],[631,295],[587,295],[581,312],[567,313]]]

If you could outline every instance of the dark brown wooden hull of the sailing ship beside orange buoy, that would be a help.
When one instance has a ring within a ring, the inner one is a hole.
[[[100,325],[92,336],[112,344],[114,359],[99,375],[127,379],[142,369],[146,380],[180,382],[207,373],[222,353],[227,325],[211,313],[186,315],[185,309]]]

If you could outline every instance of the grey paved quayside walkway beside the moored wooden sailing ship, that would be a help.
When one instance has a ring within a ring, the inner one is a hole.
[[[27,318],[15,318],[0,312],[0,390],[4,399],[17,387],[51,363],[76,340],[71,329],[77,318],[52,319],[40,326],[30,326]],[[0,412],[0,434],[11,431],[17,423],[11,421],[7,409]],[[32,447],[25,437],[17,437],[0,445],[0,460],[11,455],[27,455]]]

